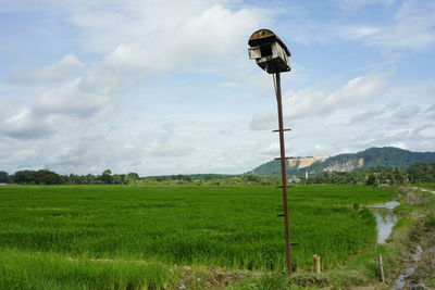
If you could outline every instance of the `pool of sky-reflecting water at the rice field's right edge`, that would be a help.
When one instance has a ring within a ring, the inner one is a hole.
[[[369,206],[376,218],[377,243],[385,243],[389,234],[391,234],[393,227],[397,222],[393,211],[399,204],[397,201],[390,201]]]

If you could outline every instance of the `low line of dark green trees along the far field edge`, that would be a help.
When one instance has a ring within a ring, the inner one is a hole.
[[[373,167],[351,173],[320,173],[304,179],[302,184],[353,184],[383,186],[395,184],[435,182],[435,163],[415,163],[408,169]],[[279,175],[166,175],[139,177],[137,173],[112,174],[110,169],[100,175],[60,175],[48,169],[18,171],[13,175],[0,171],[0,184],[20,185],[129,185],[129,184],[195,184],[195,185],[264,185],[272,186],[281,182]]]

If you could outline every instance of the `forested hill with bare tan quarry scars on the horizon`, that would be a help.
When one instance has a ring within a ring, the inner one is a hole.
[[[357,153],[346,153],[328,159],[295,157],[288,161],[287,173],[303,175],[322,172],[353,172],[370,167],[408,168],[414,163],[435,163],[435,152],[411,152],[408,150],[384,147],[370,148]],[[279,161],[266,162],[252,171],[259,175],[281,174]]]

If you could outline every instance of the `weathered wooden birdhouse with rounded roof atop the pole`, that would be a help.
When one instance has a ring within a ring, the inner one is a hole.
[[[257,64],[269,74],[289,72],[288,56],[290,52],[284,42],[269,29],[254,31],[248,41],[249,59],[256,60]]]

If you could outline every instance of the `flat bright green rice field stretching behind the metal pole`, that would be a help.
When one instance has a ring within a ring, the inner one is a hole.
[[[375,219],[363,207],[393,193],[289,188],[296,267],[309,269],[320,254],[333,268],[374,247]],[[273,187],[2,186],[0,212],[1,289],[159,289],[175,279],[172,265],[285,267],[282,191]]]

